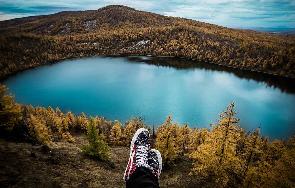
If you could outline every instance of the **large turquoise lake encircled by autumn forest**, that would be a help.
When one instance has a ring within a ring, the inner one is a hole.
[[[295,79],[170,57],[86,57],[12,75],[1,84],[19,103],[82,111],[122,124],[142,116],[163,124],[171,114],[180,126],[210,128],[231,102],[240,126],[271,140],[295,130]]]

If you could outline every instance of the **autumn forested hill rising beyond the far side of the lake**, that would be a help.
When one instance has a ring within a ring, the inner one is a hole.
[[[167,17],[126,6],[0,22],[0,78],[92,55],[178,56],[295,77],[295,38]]]

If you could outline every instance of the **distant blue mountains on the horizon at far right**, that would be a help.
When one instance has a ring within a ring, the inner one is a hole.
[[[278,26],[278,27],[227,26],[227,27],[235,28],[235,29],[250,29],[250,30],[254,30],[254,31],[263,31],[263,32],[294,33],[295,34],[295,27],[285,27],[285,26]]]

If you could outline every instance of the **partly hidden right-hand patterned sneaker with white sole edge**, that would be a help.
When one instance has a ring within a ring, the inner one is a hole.
[[[153,168],[152,172],[159,179],[160,173],[162,171],[162,156],[160,151],[151,149],[148,152],[148,165]]]

